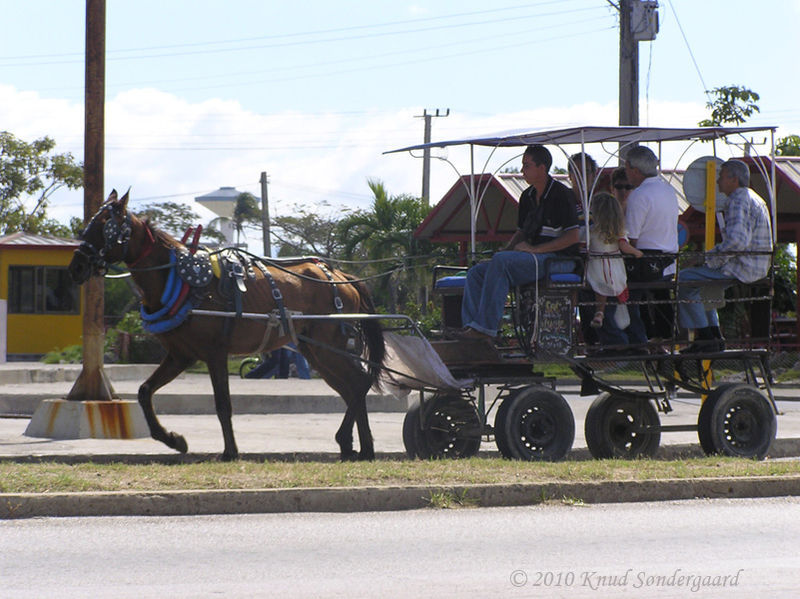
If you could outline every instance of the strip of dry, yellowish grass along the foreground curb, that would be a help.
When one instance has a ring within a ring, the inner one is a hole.
[[[0,462],[0,493],[283,489],[362,485],[447,487],[798,474],[798,462],[756,462],[726,457],[559,463],[516,462],[496,458],[453,461],[381,460],[369,463],[210,461],[148,465]],[[432,503],[450,505],[467,500],[468,497],[445,495],[431,498]]]

